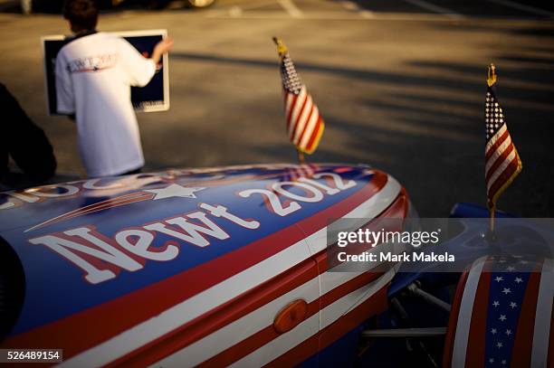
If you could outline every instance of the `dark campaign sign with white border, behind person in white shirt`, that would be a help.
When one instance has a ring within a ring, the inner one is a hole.
[[[167,36],[167,31],[148,30],[116,32],[113,34],[123,37],[141,54],[149,57],[154,51],[156,43]],[[72,36],[44,36],[41,41],[43,43],[46,109],[49,115],[62,115],[57,111],[54,71],[58,52],[60,52],[63,45],[72,41]],[[152,112],[169,109],[169,64],[167,54],[163,55],[158,63],[156,74],[145,87],[131,87],[131,102],[136,111]]]

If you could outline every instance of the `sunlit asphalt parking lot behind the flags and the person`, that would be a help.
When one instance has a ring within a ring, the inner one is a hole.
[[[0,8],[0,81],[51,138],[59,171],[83,175],[72,122],[45,110],[39,39],[66,25],[58,14]],[[553,20],[554,5],[538,1],[219,0],[205,10],[123,5],[99,28],[166,28],[176,40],[171,109],[139,114],[147,170],[295,162],[276,35],[327,123],[309,161],[384,169],[428,217],[484,203],[483,95],[494,62],[524,166],[499,208],[552,217]]]

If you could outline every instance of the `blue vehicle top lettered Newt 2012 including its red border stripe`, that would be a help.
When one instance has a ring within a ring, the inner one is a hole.
[[[336,190],[330,195],[320,188],[316,201],[310,190],[291,184],[302,176]],[[288,213],[276,212],[272,199],[259,190],[276,193]],[[396,180],[366,165],[321,164],[170,170],[0,193],[0,236],[21,260],[26,282],[24,307],[11,335],[121,297],[136,295],[137,307],[159,304],[162,310],[178,302],[172,300],[176,288],[185,290],[176,293],[179,300],[194,296],[304,241],[330,219],[367,206],[369,198],[382,197],[375,205],[387,208],[400,191]],[[183,231],[183,222],[204,231]],[[210,223],[216,230],[210,232]],[[158,231],[160,226],[166,232]],[[177,231],[180,238],[167,231]],[[130,254],[121,241],[142,253]],[[305,254],[282,267],[324,248],[306,243]],[[161,283],[167,295],[158,288],[159,299],[151,300],[153,294],[145,290]]]

